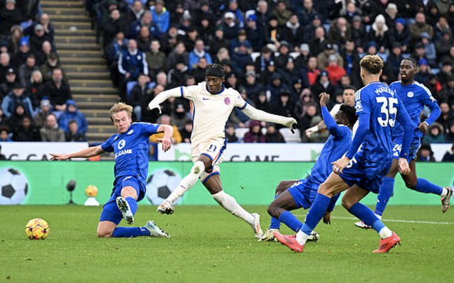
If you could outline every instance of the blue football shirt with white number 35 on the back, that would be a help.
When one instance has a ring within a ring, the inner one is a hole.
[[[356,91],[355,109],[358,116],[370,116],[369,131],[355,153],[355,159],[388,163],[392,160],[392,128],[397,115],[406,112],[399,96],[381,82],[372,82]]]

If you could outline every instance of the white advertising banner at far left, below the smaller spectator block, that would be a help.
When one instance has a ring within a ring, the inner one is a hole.
[[[70,153],[88,148],[88,143],[0,143],[1,154],[9,160],[50,160],[50,153]],[[76,158],[75,160],[84,160]]]

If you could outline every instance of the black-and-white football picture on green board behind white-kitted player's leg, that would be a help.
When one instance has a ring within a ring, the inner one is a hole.
[[[157,170],[147,179],[147,199],[154,205],[160,205],[182,180],[179,174],[171,170]],[[179,203],[179,200],[176,203]]]

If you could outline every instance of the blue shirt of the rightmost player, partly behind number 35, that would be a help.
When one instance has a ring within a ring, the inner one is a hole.
[[[406,112],[409,113],[411,121],[414,124],[413,136],[415,138],[421,138],[423,133],[418,129],[419,123],[421,122],[419,114],[423,111],[424,106],[428,106],[430,109],[438,107],[437,101],[433,98],[431,91],[423,84],[416,81],[413,82],[413,84],[408,85],[402,85],[400,81],[393,82],[389,85],[389,88],[394,91],[394,94],[399,96],[399,99],[402,100],[402,104],[404,104]],[[404,127],[396,121],[392,136],[393,138],[397,138],[402,135],[404,135]]]

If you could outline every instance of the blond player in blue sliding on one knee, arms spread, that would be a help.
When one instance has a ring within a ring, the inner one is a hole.
[[[133,107],[117,103],[110,109],[111,121],[118,134],[112,135],[102,145],[86,148],[70,154],[55,154],[51,160],[69,160],[76,157],[92,157],[104,152],[115,152],[115,181],[111,198],[104,204],[98,224],[98,237],[167,237],[153,221],[144,227],[117,227],[121,218],[126,223],[134,222],[137,202],[145,196],[145,179],[148,174],[148,138],[155,133],[164,132],[162,150],[170,148],[173,128],[167,125],[132,123]]]

